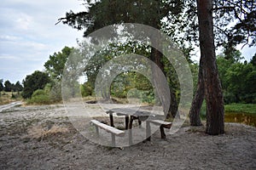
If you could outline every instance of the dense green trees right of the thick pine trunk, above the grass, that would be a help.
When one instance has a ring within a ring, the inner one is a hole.
[[[218,75],[224,92],[224,103],[256,103],[256,54],[241,62],[241,53],[233,50],[217,58]]]

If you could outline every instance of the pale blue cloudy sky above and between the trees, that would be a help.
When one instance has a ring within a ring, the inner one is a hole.
[[[34,71],[44,71],[49,55],[65,46],[77,47],[83,31],[62,23],[66,12],[84,10],[79,0],[1,0],[0,3],[0,79],[22,82]],[[255,48],[243,48],[249,61]],[[197,58],[199,59],[199,58]]]

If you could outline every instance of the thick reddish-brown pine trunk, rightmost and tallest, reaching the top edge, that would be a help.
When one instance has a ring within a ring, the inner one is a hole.
[[[213,37],[212,0],[197,0],[199,37],[205,98],[207,101],[207,131],[224,133],[224,99],[218,79]]]

